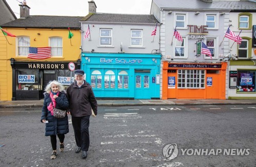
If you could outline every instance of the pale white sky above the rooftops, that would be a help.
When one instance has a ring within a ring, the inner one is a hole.
[[[19,2],[6,0],[14,14],[19,18]],[[30,15],[86,16],[91,0],[26,0]],[[150,14],[152,0],[94,0],[98,13]]]

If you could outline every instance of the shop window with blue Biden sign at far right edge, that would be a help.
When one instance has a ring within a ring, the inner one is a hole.
[[[237,92],[255,92],[256,71],[238,71]]]

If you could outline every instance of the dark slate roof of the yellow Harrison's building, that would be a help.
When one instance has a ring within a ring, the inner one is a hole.
[[[81,16],[37,16],[31,15],[26,18],[13,20],[2,27],[22,27],[22,28],[37,28],[37,29],[76,29],[81,28],[79,22]]]

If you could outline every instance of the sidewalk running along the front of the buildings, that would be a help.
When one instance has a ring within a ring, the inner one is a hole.
[[[220,100],[220,99],[167,99],[167,100],[97,100],[99,106],[125,105],[216,105],[216,104],[256,104],[255,99]],[[0,107],[42,107],[42,100],[0,101]]]

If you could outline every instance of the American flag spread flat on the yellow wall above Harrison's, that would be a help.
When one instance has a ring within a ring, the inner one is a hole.
[[[51,58],[51,47],[29,47],[28,58],[30,59]]]

